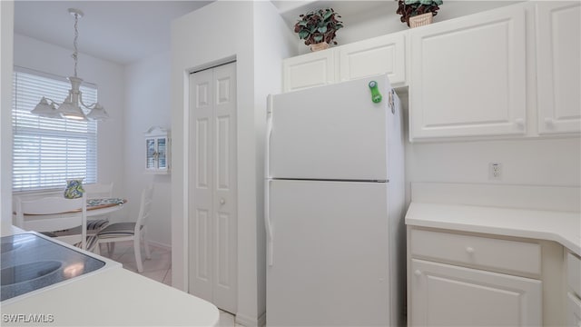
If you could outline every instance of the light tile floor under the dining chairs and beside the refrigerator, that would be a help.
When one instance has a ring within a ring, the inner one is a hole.
[[[117,242],[111,255],[107,252],[105,245],[102,245],[101,255],[113,259],[118,263],[123,263],[123,268],[132,272],[137,272],[135,255],[133,254],[133,242]],[[157,246],[150,247],[152,251],[152,260],[143,260],[143,276],[151,278],[154,281],[162,282],[172,286],[172,252]],[[143,250],[142,250],[143,251]],[[142,253],[145,259],[145,253]],[[220,311],[221,327],[242,326],[234,322],[234,316],[231,313]]]

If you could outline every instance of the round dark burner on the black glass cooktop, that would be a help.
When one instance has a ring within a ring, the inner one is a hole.
[[[57,272],[57,270],[62,266],[63,263],[51,260],[18,264],[4,268],[0,271],[0,274],[2,275],[2,286],[50,278],[51,275],[54,272]]]

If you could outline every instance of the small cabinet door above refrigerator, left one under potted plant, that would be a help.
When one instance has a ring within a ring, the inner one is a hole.
[[[335,83],[334,54],[328,49],[283,60],[283,92]]]

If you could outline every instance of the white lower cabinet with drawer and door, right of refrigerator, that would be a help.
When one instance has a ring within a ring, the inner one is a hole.
[[[543,324],[539,243],[409,229],[410,326]]]

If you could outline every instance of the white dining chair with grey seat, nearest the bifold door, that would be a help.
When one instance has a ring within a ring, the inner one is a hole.
[[[102,243],[110,244],[109,253],[114,251],[114,243],[122,241],[133,241],[133,252],[135,253],[135,263],[137,263],[137,272],[143,272],[143,261],[141,243],[145,248],[145,258],[151,259],[152,254],[147,240],[147,221],[151,215],[153,202],[153,185],[143,189],[141,204],[137,221],[133,223],[111,223],[97,233],[97,245],[95,253],[100,254],[100,245]]]

